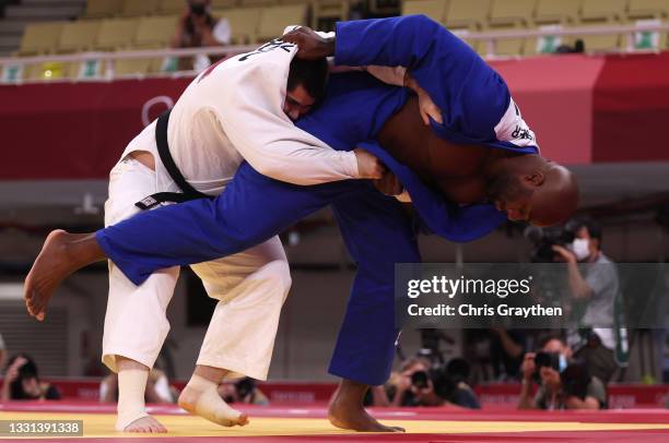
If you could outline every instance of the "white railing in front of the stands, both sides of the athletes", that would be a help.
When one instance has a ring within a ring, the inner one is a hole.
[[[454,34],[469,41],[484,41],[486,45],[486,57],[495,57],[495,43],[497,40],[532,38],[532,37],[562,37],[562,36],[586,36],[586,35],[625,35],[626,45],[624,51],[635,51],[634,37],[636,33],[652,32],[662,33],[669,32],[669,23],[657,24],[635,24],[635,25],[615,25],[615,26],[582,26],[582,27],[563,27],[563,28],[536,28],[536,29],[510,29],[510,31],[486,31],[486,32],[469,32],[465,29],[455,29]],[[70,63],[85,62],[98,60],[105,62],[105,72],[103,79],[113,80],[117,77],[114,63],[117,60],[131,59],[151,59],[151,58],[177,58],[177,57],[197,57],[197,56],[224,56],[233,57],[238,53],[248,52],[258,47],[253,46],[227,46],[227,47],[206,47],[206,48],[185,48],[185,49],[150,49],[150,50],[132,50],[132,51],[116,51],[116,52],[82,52],[74,55],[47,55],[36,57],[5,57],[0,58],[0,68],[4,67],[27,67],[40,63]],[[586,47],[587,49],[587,47]],[[658,48],[656,50],[661,50]],[[161,75],[185,76],[192,75],[193,71],[167,72]],[[137,76],[137,75],[132,75]],[[81,81],[82,79],[70,79],[69,81]],[[99,80],[99,79],[96,79]]]

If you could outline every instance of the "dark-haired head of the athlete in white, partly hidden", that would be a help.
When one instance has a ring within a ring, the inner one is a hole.
[[[328,62],[324,59],[302,60],[293,58],[286,85],[283,111],[297,120],[318,104],[326,93]]]

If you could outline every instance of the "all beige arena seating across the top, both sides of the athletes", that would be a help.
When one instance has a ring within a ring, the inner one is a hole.
[[[212,0],[212,12],[227,19],[233,45],[253,45],[281,34],[289,24],[319,27],[348,17],[351,0]],[[16,56],[63,55],[85,51],[154,49],[168,46],[184,0],[87,0],[80,20],[39,22],[25,27]],[[469,33],[520,31],[538,27],[615,26],[638,21],[664,22],[669,0],[404,0],[401,14],[425,14],[455,31]],[[463,38],[481,55],[485,41]],[[521,37],[498,39],[496,56],[535,56],[573,45],[578,37]],[[586,51],[617,51],[626,48],[623,33],[580,37]],[[638,49],[666,49],[667,33],[638,33]],[[117,74],[155,74],[161,60],[117,63]],[[46,75],[46,72],[49,75]],[[24,79],[79,76],[77,65],[35,65]],[[103,71],[96,71],[103,72]]]

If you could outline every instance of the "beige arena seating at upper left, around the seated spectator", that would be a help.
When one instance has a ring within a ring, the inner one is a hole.
[[[213,0],[212,12],[230,22],[233,45],[249,45],[281,35],[290,24],[308,24],[309,16],[314,25],[324,19],[344,20],[348,4],[348,0],[315,3],[310,0]],[[166,48],[183,10],[184,0],[87,0],[78,21],[28,24],[15,55]],[[81,63],[28,67],[23,77],[77,77],[82,72],[77,64]],[[163,64],[155,59],[120,60],[115,64],[115,72],[117,75],[159,73]],[[99,75],[103,70],[96,72]]]

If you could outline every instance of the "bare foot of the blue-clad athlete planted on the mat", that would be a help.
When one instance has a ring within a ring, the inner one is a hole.
[[[404,432],[400,427],[379,423],[363,407],[363,397],[369,386],[342,380],[330,408],[328,419],[332,426],[359,432]]]

